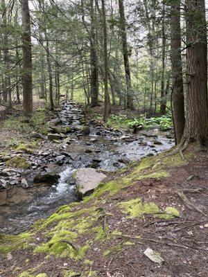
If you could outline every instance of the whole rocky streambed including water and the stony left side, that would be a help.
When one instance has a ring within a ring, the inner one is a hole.
[[[19,233],[55,208],[77,200],[72,178],[79,168],[113,172],[129,161],[167,150],[173,139],[159,129],[138,134],[87,123],[75,103],[63,103],[49,134],[1,155],[0,233]]]

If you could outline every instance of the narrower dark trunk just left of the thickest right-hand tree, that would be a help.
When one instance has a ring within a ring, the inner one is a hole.
[[[177,0],[177,2],[171,6],[171,63],[173,71],[173,125],[175,144],[178,144],[182,138],[185,125],[180,35],[180,0]]]

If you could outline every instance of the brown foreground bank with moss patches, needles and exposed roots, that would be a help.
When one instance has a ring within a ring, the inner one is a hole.
[[[83,202],[0,235],[0,276],[207,276],[207,152],[184,157],[130,163]]]

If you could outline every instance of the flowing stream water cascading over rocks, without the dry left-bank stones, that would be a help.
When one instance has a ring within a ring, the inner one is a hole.
[[[62,119],[58,127],[71,128],[67,138],[64,138],[60,144],[43,142],[41,150],[34,157],[28,155],[28,159],[33,159],[36,165],[43,160],[44,163],[48,162],[49,168],[51,167],[60,175],[58,184],[37,186],[32,181],[35,172],[31,172],[28,176],[31,180],[30,188],[18,186],[12,188],[7,193],[10,202],[0,206],[0,234],[17,234],[25,231],[35,220],[51,215],[58,206],[77,201],[76,188],[72,179],[72,173],[76,169],[93,167],[112,172],[123,168],[128,161],[137,161],[146,155],[162,152],[174,144],[173,139],[167,138],[169,133],[160,132],[159,129],[131,134],[104,129],[96,126],[93,121],[88,125],[90,134],[83,135],[82,121],[85,116],[73,102],[62,104],[58,118]],[[48,158],[45,157],[49,154],[52,158],[47,161]],[[64,159],[58,164],[56,159],[60,155]],[[17,199],[17,197],[22,202],[12,202],[11,199]]]

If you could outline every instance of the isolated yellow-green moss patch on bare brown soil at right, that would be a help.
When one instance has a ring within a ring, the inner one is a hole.
[[[180,216],[180,212],[174,207],[166,207],[161,211],[159,206],[154,202],[142,202],[141,198],[131,199],[118,204],[123,213],[127,213],[128,217],[141,217],[142,215],[153,215],[153,217],[171,219]]]

